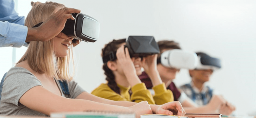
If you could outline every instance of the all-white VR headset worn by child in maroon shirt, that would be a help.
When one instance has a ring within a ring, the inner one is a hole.
[[[196,53],[183,51],[180,49],[172,49],[163,52],[157,63],[161,63],[165,67],[195,69],[197,67],[198,58]]]

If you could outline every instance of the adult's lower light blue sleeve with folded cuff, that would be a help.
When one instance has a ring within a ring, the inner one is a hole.
[[[0,47],[21,47],[22,45],[28,46],[25,43],[28,34],[28,27],[9,23],[7,21],[0,21]]]

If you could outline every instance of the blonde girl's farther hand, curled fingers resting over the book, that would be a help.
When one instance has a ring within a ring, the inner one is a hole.
[[[179,101],[175,101],[159,105],[156,110],[156,114],[185,116],[186,112],[184,111],[181,103]]]

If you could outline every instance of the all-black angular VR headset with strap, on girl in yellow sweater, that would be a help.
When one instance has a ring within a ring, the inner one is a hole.
[[[152,36],[129,36],[126,39],[125,47],[128,48],[130,57],[145,57],[148,55],[159,54],[159,47]],[[116,51],[104,56],[103,63],[116,60]]]

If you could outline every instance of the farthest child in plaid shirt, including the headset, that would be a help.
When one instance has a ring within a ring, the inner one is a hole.
[[[194,70],[189,70],[191,82],[180,86],[180,89],[198,106],[207,105],[214,97],[214,91],[209,86],[204,85],[209,81],[214,70],[221,68],[220,60],[205,53],[197,52],[198,65]],[[216,96],[215,96],[216,97]],[[224,100],[222,96],[218,96]],[[235,106],[224,100],[220,107],[220,112],[225,115],[231,114]]]

